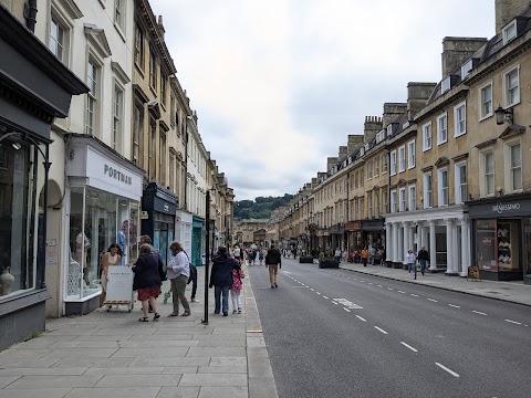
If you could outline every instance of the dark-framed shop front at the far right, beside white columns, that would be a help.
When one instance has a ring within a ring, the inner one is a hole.
[[[472,264],[482,279],[531,284],[531,195],[468,202]]]

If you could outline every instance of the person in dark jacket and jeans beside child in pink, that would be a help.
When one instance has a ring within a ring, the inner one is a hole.
[[[239,264],[227,253],[226,247],[219,247],[218,254],[214,258],[212,271],[210,273],[210,284],[208,287],[214,290],[214,313],[221,312],[221,294],[223,316],[229,315],[229,290],[232,286],[232,269]]]

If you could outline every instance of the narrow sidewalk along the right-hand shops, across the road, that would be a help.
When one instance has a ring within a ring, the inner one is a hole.
[[[417,280],[414,280],[414,276],[409,275],[406,270],[389,269],[381,265],[363,266],[363,264],[342,262],[340,263],[340,268],[402,282],[417,283],[437,289],[531,305],[531,286],[523,284],[523,281],[467,281],[467,279],[462,276],[447,276],[444,272],[426,272],[424,276],[420,272],[417,272]]]

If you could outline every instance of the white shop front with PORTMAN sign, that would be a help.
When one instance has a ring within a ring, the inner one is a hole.
[[[69,139],[67,250],[63,253],[64,314],[86,314],[98,305],[102,255],[113,243],[122,264],[138,258],[139,201],[144,171],[97,138]]]

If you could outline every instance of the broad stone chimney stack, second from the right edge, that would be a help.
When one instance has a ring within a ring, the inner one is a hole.
[[[442,80],[448,77],[470,55],[487,44],[485,38],[442,39]]]

